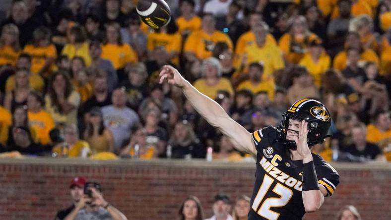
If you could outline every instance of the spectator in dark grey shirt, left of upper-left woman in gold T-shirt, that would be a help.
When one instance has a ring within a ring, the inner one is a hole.
[[[102,59],[102,47],[99,42],[93,41],[89,45],[90,47],[90,56],[91,56],[91,71],[95,69],[100,69],[107,73],[108,80],[108,90],[111,92],[118,85],[118,75],[114,69],[113,64],[108,59]]]

